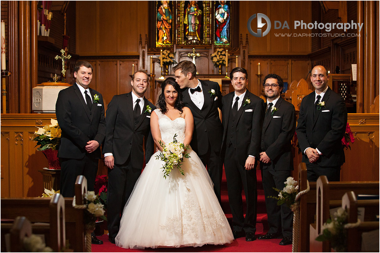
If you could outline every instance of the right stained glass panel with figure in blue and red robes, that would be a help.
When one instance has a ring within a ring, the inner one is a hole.
[[[215,1],[214,7],[214,44],[231,44],[231,5],[230,1]]]

